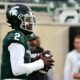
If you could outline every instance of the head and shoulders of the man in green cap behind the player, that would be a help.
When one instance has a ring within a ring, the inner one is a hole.
[[[40,46],[41,42],[39,36],[32,33],[28,39],[32,54],[42,53],[44,51],[44,49]]]

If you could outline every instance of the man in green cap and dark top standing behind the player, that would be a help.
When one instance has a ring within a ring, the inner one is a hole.
[[[31,57],[32,57],[32,62],[34,62],[34,58],[45,52],[49,53],[49,50],[45,51],[41,47],[41,40],[39,36],[36,36],[34,33],[28,36],[29,39],[29,44],[30,44],[30,49],[31,49]],[[54,73],[53,73],[53,68],[49,69],[48,71],[44,70],[38,70],[35,71],[34,73],[30,74],[28,76],[29,80],[54,80]]]

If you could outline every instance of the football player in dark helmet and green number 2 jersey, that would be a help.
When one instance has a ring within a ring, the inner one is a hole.
[[[27,76],[32,72],[46,66],[51,67],[52,56],[39,55],[36,61],[30,63],[31,52],[26,35],[33,32],[35,24],[31,9],[21,4],[14,5],[7,10],[6,18],[12,31],[8,32],[3,40],[1,78],[27,80]]]

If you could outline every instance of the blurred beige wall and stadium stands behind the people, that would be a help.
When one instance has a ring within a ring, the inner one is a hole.
[[[15,4],[31,7],[36,16],[34,32],[44,49],[55,59],[55,80],[62,80],[65,56],[69,51],[69,28],[80,26],[80,0],[0,0],[0,63],[2,40],[10,31],[5,12]]]

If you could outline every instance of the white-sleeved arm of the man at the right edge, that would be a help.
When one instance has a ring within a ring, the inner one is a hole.
[[[66,57],[65,66],[64,66],[64,80],[71,80],[71,72],[72,72],[72,62],[69,55]]]

